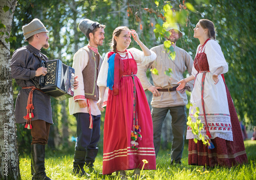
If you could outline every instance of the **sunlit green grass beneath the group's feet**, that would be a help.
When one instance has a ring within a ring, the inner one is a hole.
[[[248,157],[248,164],[232,168],[215,167],[203,171],[202,166],[189,166],[187,164],[187,144],[183,151],[182,165],[170,166],[170,150],[160,150],[157,157],[157,170],[146,170],[141,173],[140,179],[256,179],[256,141],[245,141],[245,148]],[[87,179],[86,177],[74,176],[73,154],[60,154],[61,152],[49,152],[46,154],[46,173],[55,180]],[[31,179],[30,157],[20,157],[20,174],[23,180]],[[98,154],[94,163],[95,169],[99,173],[93,173],[90,179],[120,179],[115,173],[103,177],[102,153]],[[89,172],[89,171],[88,171]],[[133,171],[127,171],[128,179],[135,179]]]

